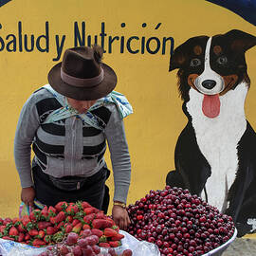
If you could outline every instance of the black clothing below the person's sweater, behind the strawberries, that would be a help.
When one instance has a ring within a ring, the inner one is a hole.
[[[109,194],[108,188],[105,188],[105,180],[109,173],[109,170],[103,167],[97,174],[86,178],[77,176],[54,178],[35,165],[32,174],[36,199],[46,206],[55,206],[61,201],[86,201],[106,213]]]

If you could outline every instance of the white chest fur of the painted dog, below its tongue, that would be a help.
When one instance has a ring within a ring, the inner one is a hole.
[[[237,144],[247,129],[245,100],[247,83],[220,96],[220,114],[210,119],[203,114],[204,95],[190,90],[187,109],[201,153],[210,164],[211,175],[206,183],[208,202],[219,210],[226,208],[226,195],[238,168]],[[204,198],[204,193],[202,193]]]

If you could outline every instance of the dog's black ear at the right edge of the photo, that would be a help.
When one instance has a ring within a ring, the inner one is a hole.
[[[256,37],[244,31],[233,29],[225,34],[229,38],[233,51],[246,52],[249,48],[256,46]]]

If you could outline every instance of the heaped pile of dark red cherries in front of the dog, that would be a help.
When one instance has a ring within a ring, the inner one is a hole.
[[[234,233],[230,216],[179,188],[150,191],[127,210],[131,219],[128,232],[154,243],[161,255],[203,255]]]

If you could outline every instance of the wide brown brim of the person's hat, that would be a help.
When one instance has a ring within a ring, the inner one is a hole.
[[[59,63],[50,69],[48,82],[58,93],[78,101],[98,100],[111,93],[118,82],[115,71],[109,65],[101,63],[101,67],[104,70],[102,82],[89,88],[77,87],[61,79],[61,67],[62,63]]]

